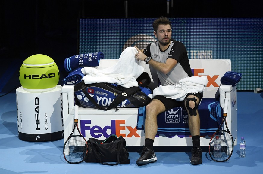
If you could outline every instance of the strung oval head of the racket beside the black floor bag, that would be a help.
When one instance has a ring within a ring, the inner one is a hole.
[[[81,136],[70,137],[64,147],[64,157],[70,163],[83,161],[86,154],[86,141]]]

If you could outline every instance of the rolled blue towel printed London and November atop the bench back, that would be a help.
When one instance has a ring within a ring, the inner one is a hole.
[[[64,68],[67,72],[71,72],[77,67],[96,67],[99,66],[99,60],[103,58],[103,52],[73,55],[65,59]]]

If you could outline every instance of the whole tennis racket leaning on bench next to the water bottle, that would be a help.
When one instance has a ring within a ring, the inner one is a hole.
[[[234,143],[233,137],[227,127],[227,107],[228,107],[229,98],[225,98],[224,100],[224,109],[223,109],[223,119],[221,125],[219,126],[218,130],[214,133],[214,135],[210,139],[209,143],[209,155],[212,160],[217,162],[224,162],[227,161],[233,152]],[[226,125],[226,130],[223,130],[223,124]],[[218,142],[221,144],[218,146]]]

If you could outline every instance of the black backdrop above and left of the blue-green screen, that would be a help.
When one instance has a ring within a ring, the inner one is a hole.
[[[19,68],[34,54],[53,58],[63,79],[64,59],[78,54],[79,18],[263,17],[262,1],[173,0],[172,7],[170,0],[169,7],[168,14],[167,0],[0,0],[0,92],[20,86]]]

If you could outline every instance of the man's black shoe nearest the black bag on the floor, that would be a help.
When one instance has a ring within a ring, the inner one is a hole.
[[[148,163],[154,163],[157,161],[157,157],[153,150],[148,149],[147,147],[142,148],[142,154],[140,158],[136,161],[138,165],[144,165]]]

